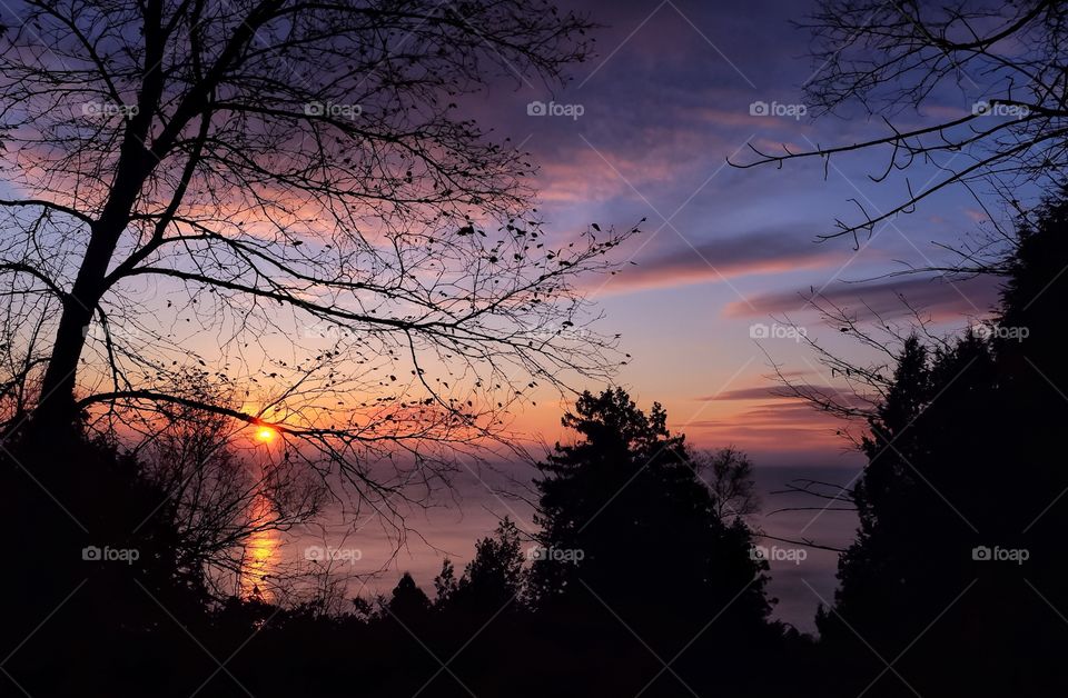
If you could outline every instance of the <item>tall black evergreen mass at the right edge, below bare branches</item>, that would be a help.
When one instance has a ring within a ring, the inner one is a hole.
[[[998,322],[934,346],[910,337],[869,419],[860,530],[819,617],[832,661],[850,668],[843,695],[1065,687],[1050,647],[1068,602],[1056,456],[1068,401],[1055,382],[1066,210],[1048,202],[1037,228],[1021,227]],[[893,672],[872,649],[901,656]]]

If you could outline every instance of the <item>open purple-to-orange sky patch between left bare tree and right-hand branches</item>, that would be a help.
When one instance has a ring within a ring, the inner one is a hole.
[[[948,190],[878,226],[860,249],[852,238],[817,243],[835,219],[858,219],[851,199],[876,213],[907,189],[901,177],[868,178],[882,172],[889,150],[835,159],[825,180],[818,161],[781,170],[726,164],[751,160],[749,143],[765,152],[782,143],[803,150],[888,132],[879,114],[857,109],[818,120],[789,116],[801,111],[801,88],[819,68],[805,56],[809,32],[790,23],[808,3],[630,1],[611,11],[586,4],[607,26],[596,34],[599,56],[565,89],[554,93],[516,78],[469,107],[541,164],[550,231],[647,219],[644,235],[623,252],[637,266],[590,282],[606,313],[603,329],[620,332],[633,355],[617,381],[642,403],[663,402],[673,427],[700,445],[733,442],[765,465],[839,462],[833,421],[769,395],[777,385],[769,357],[798,382],[834,381],[811,350],[789,337],[754,340],[751,326],[789,320],[860,356],[837,341],[837,328],[820,325],[803,298],[815,289],[850,309],[862,299],[886,319],[907,312],[897,297],[903,293],[946,329],[965,327],[989,311],[996,288],[988,279],[884,275],[950,259],[937,243],[980,230],[986,215],[967,191]],[[981,91],[963,88],[946,94],[938,113],[903,109],[893,123],[968,113]],[[530,116],[535,100],[555,102],[557,113]],[[756,101],[778,103],[784,116],[752,116]],[[936,169],[919,164],[909,178],[918,191],[939,181]],[[551,441],[558,412],[558,405],[545,405],[521,422]]]

